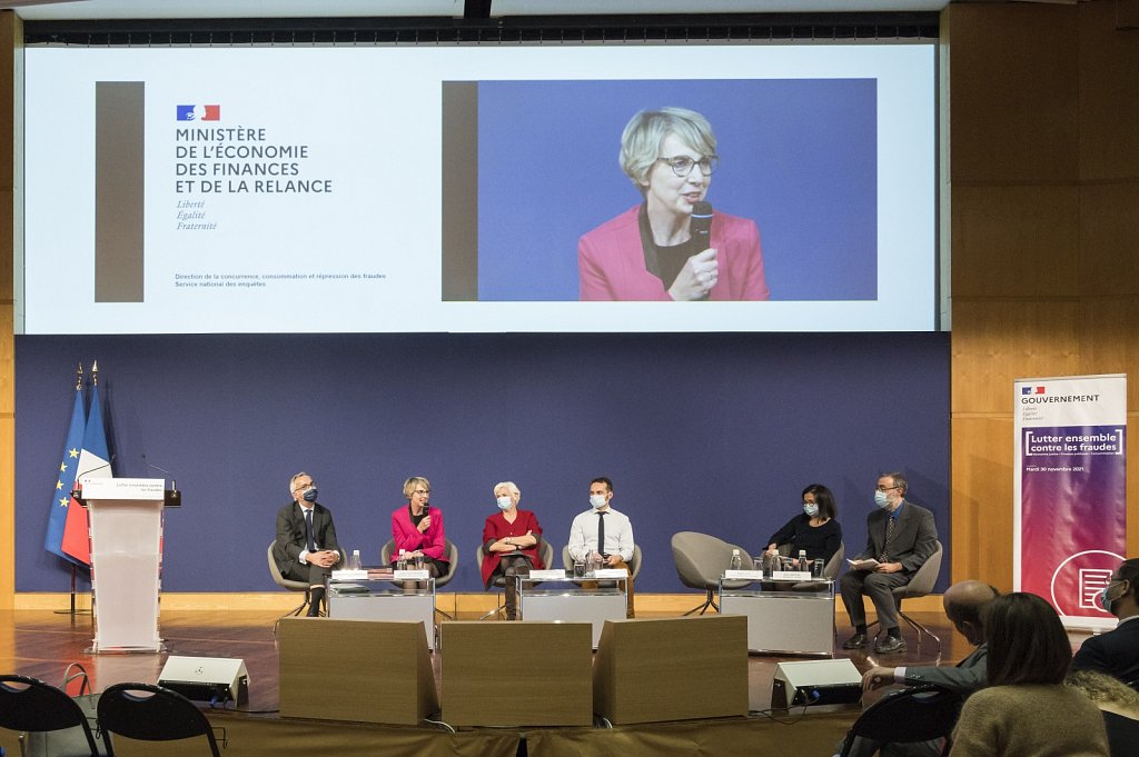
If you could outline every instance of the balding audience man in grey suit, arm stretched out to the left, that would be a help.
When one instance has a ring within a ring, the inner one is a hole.
[[[872,667],[862,676],[862,691],[874,691],[892,684],[923,686],[933,683],[968,697],[984,686],[989,660],[989,645],[984,641],[985,617],[989,615],[989,606],[999,593],[980,581],[961,581],[950,586],[942,598],[945,617],[976,649],[953,667],[925,665]],[[885,757],[935,757],[942,752],[943,747],[941,740],[891,743],[883,747],[879,741],[855,737],[854,743],[851,744],[850,757],[869,757],[879,748]],[[842,751],[842,744],[838,746],[838,751]]]

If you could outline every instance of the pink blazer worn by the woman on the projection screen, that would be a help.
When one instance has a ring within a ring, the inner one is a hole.
[[[577,242],[581,299],[670,299],[664,283],[645,269],[640,205],[606,221]],[[720,278],[708,299],[767,299],[760,230],[754,221],[716,212],[712,244]]]

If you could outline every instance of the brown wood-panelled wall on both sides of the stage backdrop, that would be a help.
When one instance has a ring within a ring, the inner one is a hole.
[[[1136,0],[970,2],[942,16],[954,581],[1011,587],[1014,379],[1129,373],[1128,404],[1139,410],[1137,22]],[[0,13],[5,114],[21,38],[18,19]],[[0,118],[0,609],[14,602],[13,123]],[[1128,455],[1130,554],[1136,460]]]

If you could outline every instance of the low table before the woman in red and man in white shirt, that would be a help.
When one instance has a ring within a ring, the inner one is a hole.
[[[589,623],[593,627],[593,649],[601,639],[605,622],[625,617],[628,576],[600,578],[597,589],[581,587],[582,581],[593,581],[588,575],[584,578],[516,576],[516,579],[521,619]]]

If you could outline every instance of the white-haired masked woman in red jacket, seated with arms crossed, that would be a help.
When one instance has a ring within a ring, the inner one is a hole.
[[[518,509],[521,500],[522,492],[514,482],[495,484],[498,512],[489,516],[483,525],[483,585],[490,589],[497,577],[506,577],[507,620],[517,619],[518,614],[518,587],[514,577],[528,575],[531,568],[546,567],[538,551],[542,527],[533,512]]]

